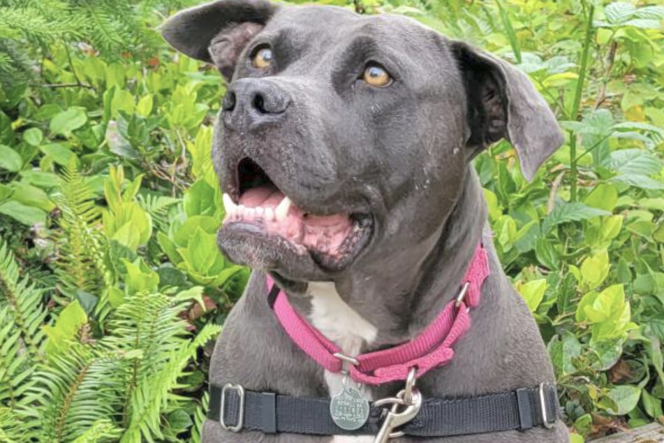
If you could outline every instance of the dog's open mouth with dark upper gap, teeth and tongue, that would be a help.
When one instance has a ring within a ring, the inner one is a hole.
[[[338,212],[322,215],[299,208],[283,194],[256,162],[245,158],[238,168],[239,197],[223,194],[223,226],[281,238],[297,254],[311,254],[327,270],[348,266],[371,234],[368,214]]]

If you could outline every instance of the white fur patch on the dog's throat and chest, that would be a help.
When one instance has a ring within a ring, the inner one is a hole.
[[[334,283],[310,282],[307,295],[311,296],[311,326],[332,340],[347,356],[360,353],[362,342],[370,344],[376,340],[376,327],[357,314],[352,307],[341,300]],[[344,376],[325,371],[325,383],[330,396],[336,395],[344,387]],[[351,382],[352,383],[352,382]],[[362,386],[364,398],[371,399],[371,393]],[[374,437],[353,437],[335,435],[333,443],[371,443]]]

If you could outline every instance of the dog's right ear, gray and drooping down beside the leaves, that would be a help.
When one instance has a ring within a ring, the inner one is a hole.
[[[563,144],[553,112],[526,74],[506,61],[452,42],[464,77],[474,152],[501,138],[517,150],[521,170],[532,180],[537,168]]]

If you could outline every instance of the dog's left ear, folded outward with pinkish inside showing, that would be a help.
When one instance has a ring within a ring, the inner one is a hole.
[[[170,17],[161,34],[173,48],[214,64],[230,80],[240,53],[276,8],[267,0],[215,1]]]

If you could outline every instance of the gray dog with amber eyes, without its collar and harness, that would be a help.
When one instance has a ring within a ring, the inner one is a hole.
[[[561,145],[526,75],[407,17],[331,6],[221,0],[178,13],[162,30],[229,82],[212,148],[226,192],[218,240],[254,272],[216,343],[211,384],[329,399],[348,383],[286,334],[266,301],[267,274],[311,326],[355,356],[408,342],[434,321],[457,297],[480,241],[491,269],[481,303],[452,361],[417,380],[422,398],[554,382],[538,328],[492,249],[471,164],[507,138],[531,179]],[[403,386],[361,391],[373,401]],[[207,420],[205,442],[373,438],[226,427]],[[399,441],[568,438],[559,419],[549,429]]]

